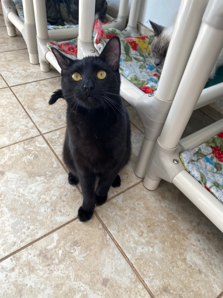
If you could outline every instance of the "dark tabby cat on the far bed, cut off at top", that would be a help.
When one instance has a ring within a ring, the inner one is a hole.
[[[79,0],[45,0],[47,22],[50,25],[78,24]],[[106,0],[95,1],[95,19],[104,19],[107,11]]]

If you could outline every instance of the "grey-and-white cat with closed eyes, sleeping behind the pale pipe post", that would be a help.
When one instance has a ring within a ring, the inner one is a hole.
[[[164,61],[167,55],[167,49],[169,46],[170,38],[173,32],[173,26],[168,28],[161,25],[157,25],[150,21],[151,26],[153,27],[155,38],[151,45],[151,56],[153,58],[153,63],[156,65],[157,70],[161,73],[164,65]],[[216,70],[219,66],[223,64],[223,49],[219,55],[219,58],[213,67],[209,79],[213,79],[215,76]]]

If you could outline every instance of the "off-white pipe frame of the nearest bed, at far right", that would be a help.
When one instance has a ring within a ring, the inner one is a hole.
[[[212,133],[223,130],[223,121],[220,120],[180,140],[222,47],[222,1],[210,0],[174,101],[148,163],[144,186],[155,190],[161,179],[172,182],[223,232],[223,204],[185,170],[179,159],[179,153],[184,149],[191,149],[213,136]]]

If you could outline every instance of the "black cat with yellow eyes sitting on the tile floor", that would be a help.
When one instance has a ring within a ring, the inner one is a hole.
[[[49,104],[60,97],[67,102],[63,158],[69,183],[80,181],[78,218],[87,221],[95,204],[105,203],[109,188],[120,186],[118,173],[131,153],[130,121],[120,97],[120,40],[111,38],[100,56],[82,60],[52,51],[61,67],[62,90],[54,92]]]

